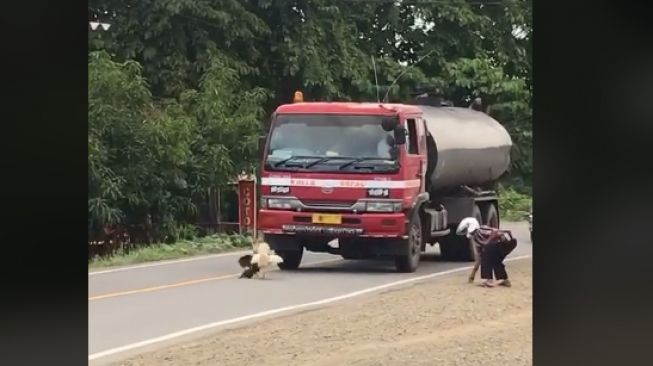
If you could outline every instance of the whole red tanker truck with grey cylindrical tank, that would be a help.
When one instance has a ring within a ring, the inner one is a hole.
[[[414,272],[427,245],[446,261],[474,260],[456,226],[472,216],[499,227],[494,187],[512,141],[483,112],[427,104],[299,100],[276,109],[260,141],[257,229],[282,270],[298,268],[305,250],[390,257],[398,272]]]

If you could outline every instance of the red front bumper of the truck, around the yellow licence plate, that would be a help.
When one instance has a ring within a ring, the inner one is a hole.
[[[405,237],[406,216],[399,213],[342,213],[342,224],[313,224],[318,212],[260,210],[259,230],[266,234],[317,235],[330,237]]]

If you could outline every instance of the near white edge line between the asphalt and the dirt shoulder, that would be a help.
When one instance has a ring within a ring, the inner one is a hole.
[[[523,255],[523,256],[519,256],[519,257],[508,258],[508,259],[506,259],[506,262],[512,262],[512,261],[531,258],[531,257],[532,257],[532,255]],[[345,299],[350,299],[352,297],[365,295],[365,294],[368,294],[368,293],[371,293],[371,292],[384,290],[384,289],[395,287],[395,286],[404,285],[404,284],[411,283],[411,282],[418,282],[418,281],[422,281],[422,280],[426,280],[426,279],[430,279],[430,278],[441,277],[441,276],[452,274],[452,273],[468,271],[468,270],[470,270],[472,268],[473,268],[473,266],[467,266],[467,267],[450,269],[450,270],[443,271],[443,272],[430,273],[430,274],[427,274],[427,275],[411,277],[411,278],[404,279],[404,280],[389,282],[389,283],[386,283],[386,284],[383,284],[383,285],[369,287],[369,288],[366,288],[366,289],[363,289],[363,290],[350,292],[350,293],[340,295],[340,296],[329,297],[329,298],[318,300],[318,301],[313,301],[313,302],[308,302],[308,303],[303,303],[303,304],[297,304],[297,305],[285,306],[285,307],[282,307],[282,308],[266,310],[266,311],[259,312],[259,313],[240,316],[240,317],[237,317],[237,318],[226,319],[226,320],[221,320],[221,321],[214,322],[214,323],[200,325],[200,326],[197,326],[197,327],[188,328],[188,329],[184,329],[184,330],[181,330],[181,331],[178,331],[178,332],[166,334],[164,336],[151,338],[151,339],[147,339],[147,340],[144,340],[144,341],[127,344],[127,345],[124,345],[124,346],[121,346],[121,347],[111,348],[111,349],[108,349],[108,350],[105,350],[105,351],[93,353],[93,354],[88,356],[88,360],[89,361],[97,360],[99,358],[115,355],[115,354],[118,354],[118,353],[133,350],[133,349],[136,349],[136,348],[149,346],[149,345],[152,345],[152,344],[155,344],[155,343],[165,342],[165,341],[168,341],[168,340],[171,340],[171,339],[174,339],[174,338],[182,337],[182,336],[189,335],[189,334],[192,334],[192,333],[201,332],[201,331],[208,330],[208,329],[211,329],[211,328],[217,328],[217,327],[221,327],[221,326],[225,326],[225,325],[229,325],[229,324],[233,324],[233,323],[243,322],[243,321],[256,319],[256,318],[262,318],[262,317],[265,317],[265,316],[275,315],[275,314],[279,314],[279,313],[283,313],[283,312],[287,312],[287,311],[293,311],[293,310],[299,310],[299,309],[309,308],[309,307],[313,307],[313,306],[325,305],[325,304],[329,304],[329,303],[332,303],[332,302],[337,302],[337,301],[341,301],[341,300],[345,300]]]

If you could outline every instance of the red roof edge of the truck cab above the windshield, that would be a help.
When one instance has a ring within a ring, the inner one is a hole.
[[[398,112],[413,114],[422,113],[415,105],[393,103],[353,103],[353,102],[302,102],[280,105],[276,113],[297,114],[372,114],[392,115]]]

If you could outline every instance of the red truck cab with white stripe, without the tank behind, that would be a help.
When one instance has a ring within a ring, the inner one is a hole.
[[[392,256],[413,272],[423,249],[413,208],[425,191],[427,140],[412,105],[293,103],[273,114],[261,164],[258,230],[297,268],[304,248]],[[338,239],[338,247],[327,243]]]

